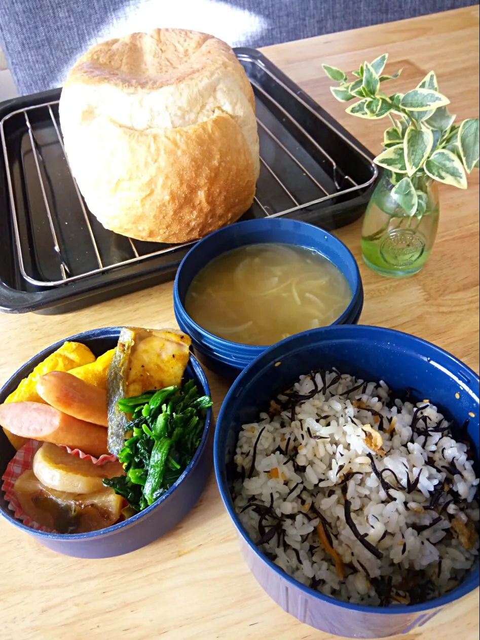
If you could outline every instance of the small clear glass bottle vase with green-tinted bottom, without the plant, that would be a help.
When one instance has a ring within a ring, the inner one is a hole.
[[[438,228],[438,188],[419,177],[415,187],[426,195],[425,210],[412,216],[391,195],[394,184],[385,172],[365,211],[362,226],[364,262],[376,273],[405,278],[418,273],[431,253]]]

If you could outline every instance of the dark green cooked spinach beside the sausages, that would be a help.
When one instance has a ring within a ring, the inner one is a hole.
[[[188,467],[210,406],[211,398],[200,396],[193,380],[119,400],[118,409],[131,415],[130,437],[118,454],[125,476],[104,478],[104,485],[135,511],[153,504]]]

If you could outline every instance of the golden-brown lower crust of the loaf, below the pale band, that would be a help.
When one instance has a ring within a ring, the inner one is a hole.
[[[109,127],[116,125],[98,122],[85,143],[95,140],[100,129],[108,134]],[[117,233],[140,240],[186,242],[237,220],[252,204],[252,158],[230,116],[156,133],[122,127],[109,140],[108,152],[92,156],[90,162],[93,195],[89,191],[83,195],[102,225]],[[215,156],[205,162],[205,150],[211,147]],[[105,172],[104,164],[116,170]],[[159,179],[167,172],[168,179]],[[95,195],[100,191],[102,200]],[[120,209],[129,215],[119,219]]]

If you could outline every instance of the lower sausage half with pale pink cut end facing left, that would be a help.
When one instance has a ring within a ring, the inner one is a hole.
[[[107,429],[38,402],[0,405],[0,424],[17,436],[63,444],[99,457],[108,453]]]

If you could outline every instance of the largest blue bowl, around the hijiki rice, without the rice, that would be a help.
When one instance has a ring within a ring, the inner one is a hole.
[[[280,363],[280,364],[278,364]],[[303,586],[273,564],[241,524],[230,486],[242,424],[255,422],[269,401],[301,374],[337,367],[364,380],[385,380],[397,392],[410,388],[412,401],[431,399],[448,419],[469,418],[476,472],[479,452],[479,377],[442,349],[406,333],[373,326],[332,326],[299,333],[267,349],[240,374],[225,398],[214,439],[214,467],[223,503],[255,578],[275,602],[298,620],[339,636],[372,638],[422,626],[445,605],[479,586],[478,566],[456,588],[419,605],[368,607],[342,602]]]

